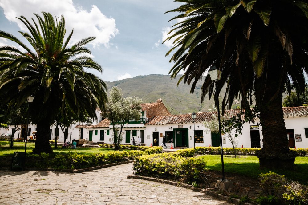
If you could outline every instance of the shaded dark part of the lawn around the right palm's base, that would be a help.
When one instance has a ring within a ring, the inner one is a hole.
[[[308,184],[308,164],[295,164],[294,168],[290,169],[260,169],[259,163],[224,163],[225,173],[258,178],[261,173],[270,171],[276,172],[279,175],[285,175],[291,181],[298,181],[302,184]],[[208,170],[221,171],[221,164],[207,165]]]

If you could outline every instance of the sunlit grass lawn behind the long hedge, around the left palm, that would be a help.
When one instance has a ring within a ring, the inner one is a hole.
[[[0,157],[3,156],[13,156],[14,152],[24,152],[25,151],[25,143],[24,142],[14,142],[13,149],[9,148],[8,141],[0,141]],[[27,142],[27,153],[32,153],[35,144],[33,142]],[[111,148],[78,148],[78,149],[70,149],[65,148],[62,149],[62,145],[58,145],[58,149],[55,149],[55,145],[51,144],[53,152],[55,154],[58,153],[68,153],[68,152],[76,152],[79,154],[97,154],[97,153],[107,153],[113,152],[114,150]]]

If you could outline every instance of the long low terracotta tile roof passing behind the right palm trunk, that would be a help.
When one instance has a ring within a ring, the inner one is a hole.
[[[289,116],[307,116],[308,107],[284,107],[282,108],[284,117]],[[226,110],[225,115],[234,116],[240,113],[241,109]],[[195,122],[203,122],[205,120],[212,120],[212,115],[217,112],[198,112],[196,113]],[[183,124],[192,123],[192,113],[182,115],[169,115],[169,116],[155,116],[148,121],[147,125],[159,125],[159,124]]]

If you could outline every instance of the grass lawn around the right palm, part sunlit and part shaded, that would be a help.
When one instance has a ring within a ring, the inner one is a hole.
[[[207,161],[207,169],[221,171],[220,155],[201,156]],[[285,175],[288,179],[298,181],[303,184],[308,183],[308,157],[296,157],[294,170],[269,170],[259,169],[259,159],[256,156],[239,156],[234,158],[229,155],[224,156],[225,173],[233,173],[257,178],[259,174],[274,171],[277,174]]]

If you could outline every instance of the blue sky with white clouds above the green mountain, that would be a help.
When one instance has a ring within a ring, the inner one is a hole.
[[[178,7],[173,0],[0,0],[1,30],[19,39],[26,30],[15,17],[34,18],[33,13],[64,15],[67,33],[74,28],[72,43],[95,36],[89,45],[93,59],[104,69],[94,72],[104,81],[149,74],[168,74],[172,67],[165,57],[172,43],[161,44],[176,13],[164,14]],[[0,39],[0,45],[13,45]]]

